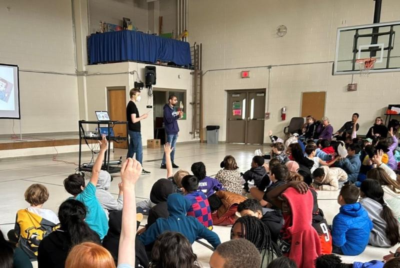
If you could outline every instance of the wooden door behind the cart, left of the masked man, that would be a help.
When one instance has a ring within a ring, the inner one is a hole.
[[[108,89],[108,113],[111,120],[126,121],[126,91],[123,89]],[[126,137],[126,125],[115,124],[114,135]],[[114,142],[114,148],[127,149],[126,141]]]

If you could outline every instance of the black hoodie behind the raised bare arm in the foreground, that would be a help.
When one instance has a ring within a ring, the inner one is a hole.
[[[115,263],[118,262],[119,237],[121,235],[122,211],[109,212],[108,232],[104,236],[103,246],[111,253]],[[135,267],[148,267],[148,258],[143,243],[138,236],[135,238]]]

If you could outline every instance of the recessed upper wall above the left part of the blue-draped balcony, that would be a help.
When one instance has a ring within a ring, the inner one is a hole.
[[[100,30],[100,21],[122,25],[122,17],[130,18],[138,30],[148,30],[146,0],[89,0],[90,33]]]

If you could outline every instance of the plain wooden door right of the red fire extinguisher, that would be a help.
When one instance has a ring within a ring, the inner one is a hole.
[[[301,117],[311,115],[315,120],[320,120],[325,113],[326,92],[302,92]]]

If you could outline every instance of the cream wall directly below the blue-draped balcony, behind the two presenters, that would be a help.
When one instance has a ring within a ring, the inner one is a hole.
[[[114,73],[114,72],[130,72],[137,71],[138,77],[144,81],[144,66],[148,64],[135,63],[135,62],[120,62],[108,63],[98,65],[88,65],[86,70],[89,73]],[[180,75],[180,78],[178,78]],[[190,70],[173,68],[166,66],[156,66],[156,85],[154,87],[171,88],[171,89],[185,89],[187,102],[192,99],[192,75]],[[133,87],[134,81],[137,80],[135,74],[113,74],[113,75],[90,75],[86,78],[87,90],[87,110],[88,119],[95,119],[95,110],[102,110],[107,108],[106,103],[106,87],[107,86],[125,86],[126,88],[126,103],[129,101],[129,90]],[[141,100],[136,103],[140,113],[148,110],[146,105],[152,105],[152,98],[149,99],[147,89],[141,91]],[[187,119],[179,120],[178,125],[180,128],[178,142],[191,141],[191,109],[187,107]],[[147,139],[153,138],[153,114],[149,113],[147,119],[141,121],[141,135],[142,142],[146,144]]]

